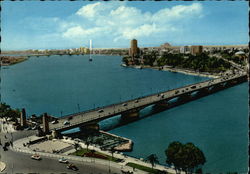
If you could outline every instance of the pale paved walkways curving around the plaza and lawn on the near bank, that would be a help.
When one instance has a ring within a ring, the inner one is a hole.
[[[30,141],[30,139],[31,139],[31,137],[26,137],[26,138],[22,138],[22,139],[19,139],[17,141],[14,141],[12,150],[17,151],[17,152],[27,153],[27,154],[30,154],[30,155],[38,154],[41,157],[49,157],[49,158],[56,158],[56,159],[64,157],[64,158],[66,158],[68,160],[72,160],[72,161],[79,161],[79,162],[84,162],[84,163],[95,163],[97,165],[100,164],[100,165],[104,165],[104,166],[112,166],[113,168],[120,169],[120,170],[123,170],[123,171],[133,171],[134,174],[146,174],[147,172],[141,171],[139,169],[133,169],[132,167],[127,166],[128,163],[135,163],[135,164],[139,164],[139,165],[146,166],[146,167],[149,167],[149,168],[152,167],[151,164],[148,163],[148,162],[145,162],[143,160],[133,158],[133,157],[130,157],[130,156],[126,156],[123,153],[114,153],[113,154],[113,157],[122,159],[122,162],[115,163],[115,162],[112,162],[112,161],[102,160],[102,159],[98,159],[98,158],[78,157],[78,156],[70,155],[71,153],[75,152],[75,149],[70,149],[69,151],[61,153],[61,154],[41,152],[41,151],[39,151],[39,149],[34,151],[34,150],[31,150],[28,146],[23,146],[23,144],[28,143]],[[75,140],[70,139],[70,138],[66,138],[66,137],[64,137],[61,140],[54,140],[54,141],[57,142],[57,144],[59,142],[61,142],[62,144],[67,143],[67,144],[71,144],[71,145],[74,145],[75,142],[76,142]],[[79,142],[79,145],[80,145],[81,148],[87,148],[87,145],[85,143],[83,143],[83,142]],[[97,152],[101,152],[103,154],[112,156],[111,152],[101,150],[98,146],[89,145],[88,148],[91,149],[91,150],[95,150]],[[176,173],[173,168],[169,168],[169,167],[162,166],[162,165],[156,165],[154,167],[154,169],[165,171],[165,172],[171,173],[171,174]]]

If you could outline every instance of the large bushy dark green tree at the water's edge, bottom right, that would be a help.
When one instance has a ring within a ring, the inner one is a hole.
[[[178,170],[183,170],[186,173],[193,172],[195,168],[206,162],[203,152],[193,143],[172,142],[165,154],[167,156],[166,162],[169,165],[174,165],[176,172]]]

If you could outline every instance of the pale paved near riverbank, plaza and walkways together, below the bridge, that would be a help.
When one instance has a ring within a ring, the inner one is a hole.
[[[22,139],[18,139],[16,141],[13,142],[13,147],[11,147],[12,150],[14,151],[18,151],[18,152],[24,152],[24,153],[30,153],[30,154],[37,154],[40,156],[47,156],[47,157],[54,157],[54,158],[65,158],[68,160],[74,160],[74,161],[90,161],[90,162],[96,162],[97,164],[105,164],[105,165],[111,165],[114,166],[116,168],[119,168],[121,170],[126,170],[126,171],[133,171],[135,174],[146,174],[146,171],[140,170],[140,169],[136,169],[131,167],[129,164],[133,163],[136,165],[140,165],[140,166],[145,166],[144,168],[151,168],[151,164],[149,162],[144,161],[143,159],[137,159],[131,156],[127,156],[121,152],[110,152],[107,150],[103,150],[101,149],[99,146],[96,145],[86,145],[84,142],[79,142],[78,139],[72,139],[70,137],[66,137],[64,136],[62,139],[53,139],[53,140],[43,140],[41,142],[37,142],[36,144],[32,145],[34,146],[31,149],[31,146],[27,146],[24,144],[28,144],[30,139],[34,139],[35,136],[29,136],[29,137],[25,137]],[[47,143],[46,146],[42,146],[41,143]],[[60,149],[65,149],[65,151],[60,151],[59,153],[49,153],[48,149],[51,148],[48,146],[48,143],[50,143],[50,146],[53,146],[54,148],[59,148]],[[78,143],[79,144],[79,148],[82,149],[90,149],[93,152],[99,152],[103,155],[107,155],[112,157],[113,159],[119,159],[119,161],[114,162],[111,160],[104,160],[104,159],[99,159],[99,158],[95,158],[93,160],[93,158],[91,157],[79,157],[76,155],[72,155],[72,153],[76,152],[75,148],[67,148],[65,147],[65,144],[67,144],[68,146],[73,147],[74,144]],[[39,147],[38,147],[39,146]],[[35,149],[34,149],[35,148]],[[166,173],[170,173],[170,174],[175,174],[175,170],[173,168],[170,167],[166,167],[163,165],[159,165],[156,164],[154,169],[157,169],[159,171],[164,171]],[[184,172],[181,172],[182,174]]]

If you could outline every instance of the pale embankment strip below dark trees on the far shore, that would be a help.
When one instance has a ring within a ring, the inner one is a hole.
[[[124,65],[122,65],[124,66]],[[168,66],[149,66],[149,65],[129,65],[129,66],[124,66],[124,67],[132,67],[132,68],[137,68],[137,69],[143,69],[143,68],[150,68],[150,69],[155,69],[155,70],[161,70],[161,71],[169,71],[169,72],[174,72],[174,73],[182,73],[182,74],[187,74],[187,75],[193,75],[193,76],[201,76],[201,77],[209,77],[209,78],[219,78],[219,74],[211,74],[209,72],[197,72],[197,71],[192,71],[192,70],[187,70],[187,69],[181,69],[181,68],[171,68]]]

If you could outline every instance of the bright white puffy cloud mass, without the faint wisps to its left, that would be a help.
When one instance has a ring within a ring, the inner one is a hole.
[[[177,5],[155,13],[142,12],[126,3],[96,2],[81,7],[77,26],[67,28],[62,37],[76,40],[107,37],[113,42],[132,38],[159,37],[182,30],[184,21],[202,15],[202,5]]]

